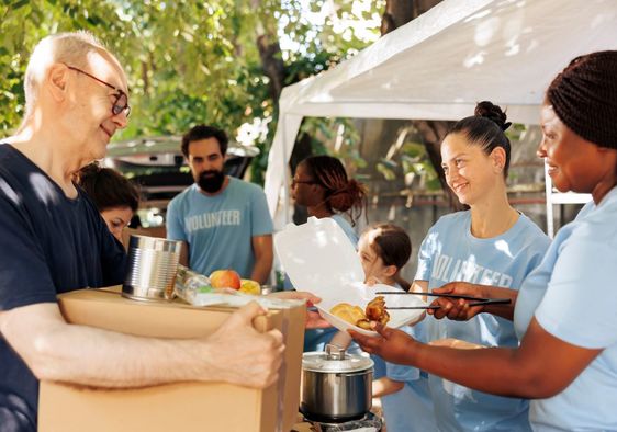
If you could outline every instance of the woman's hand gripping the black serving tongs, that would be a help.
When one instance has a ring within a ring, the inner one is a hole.
[[[439,288],[433,289],[433,293],[469,295],[474,297],[483,296],[480,285],[473,285],[468,282],[450,282]],[[469,306],[472,302],[473,300],[465,300],[462,298],[438,297],[430,306],[440,306],[440,308],[428,309],[427,314],[433,315],[437,319],[447,317],[456,321],[467,321],[484,311],[484,306]]]

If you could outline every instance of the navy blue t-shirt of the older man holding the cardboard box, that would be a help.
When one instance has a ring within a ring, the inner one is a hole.
[[[122,283],[126,255],[82,190],[68,198],[11,145],[0,145],[0,310]],[[38,382],[0,334],[0,430],[35,431]]]

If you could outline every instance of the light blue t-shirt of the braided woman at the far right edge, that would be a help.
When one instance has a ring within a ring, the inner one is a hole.
[[[616,431],[617,187],[559,230],[525,281],[514,316],[519,334],[531,316],[556,338],[604,350],[559,395],[530,402],[534,430]]]

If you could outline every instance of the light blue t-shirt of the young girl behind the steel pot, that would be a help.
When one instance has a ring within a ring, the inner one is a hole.
[[[403,330],[414,339],[425,342],[424,321]],[[430,432],[437,430],[433,400],[428,388],[428,375],[416,367],[385,362],[385,376],[405,386],[381,398],[389,432]]]

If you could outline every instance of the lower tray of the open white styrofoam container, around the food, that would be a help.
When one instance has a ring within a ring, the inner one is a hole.
[[[367,304],[372,300],[378,291],[386,292],[400,292],[390,285],[377,284],[373,286],[364,285],[363,283],[352,283],[339,287],[335,295],[328,296],[327,298],[322,298],[322,302],[316,304],[315,307],[319,310],[322,317],[328,321],[330,325],[336,327],[338,330],[347,331],[348,329],[356,330],[359,333],[367,336],[377,336],[378,333],[372,330],[364,330],[358,326],[354,326],[344,319],[332,315],[330,309],[338,305],[339,303],[348,303],[352,306],[360,306],[366,309]],[[422,296],[415,295],[384,295],[385,306],[426,306],[427,304],[422,299]],[[399,328],[415,323],[418,321],[425,310],[423,309],[403,309],[403,310],[389,310],[390,321],[388,321],[388,327]]]

